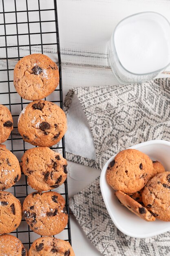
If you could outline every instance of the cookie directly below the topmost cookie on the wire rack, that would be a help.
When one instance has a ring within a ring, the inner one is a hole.
[[[36,146],[50,147],[64,136],[67,130],[66,115],[50,101],[33,101],[22,110],[18,131],[24,141]]]

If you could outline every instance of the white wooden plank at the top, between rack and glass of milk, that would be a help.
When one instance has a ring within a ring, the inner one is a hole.
[[[57,6],[63,62],[108,65],[113,29],[133,13],[157,11],[170,21],[169,0],[58,0]]]

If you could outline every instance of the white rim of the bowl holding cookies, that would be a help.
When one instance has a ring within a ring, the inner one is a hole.
[[[150,140],[150,141],[145,141],[145,142],[142,142],[142,143],[139,143],[139,144],[136,144],[134,146],[131,146],[129,148],[133,148],[133,149],[138,149],[142,146],[147,146],[147,145],[153,145],[153,144],[163,144],[163,145],[166,145],[166,146],[169,146],[170,147],[170,141],[166,141],[166,140],[161,140],[161,139],[155,139],[155,140]],[[127,148],[128,149],[128,148]],[[107,197],[106,197],[106,194],[104,193],[104,180],[105,180],[105,175],[106,175],[106,171],[107,171],[107,167],[108,167],[108,164],[110,163],[110,161],[113,161],[113,159],[115,158],[115,156],[117,155],[117,153],[115,155],[113,155],[112,157],[110,157],[110,159],[108,159],[108,161],[104,164],[103,168],[102,168],[102,172],[101,172],[101,175],[100,175],[100,190],[101,190],[101,193],[102,193],[102,197],[103,197],[103,200],[104,200],[104,204],[106,206],[106,209],[108,211],[108,214],[111,218],[111,220],[113,221],[113,223],[115,224],[115,226],[122,232],[124,233],[125,235],[127,236],[131,236],[131,237],[134,237],[134,238],[147,238],[147,237],[151,237],[151,236],[156,236],[156,235],[159,235],[159,234],[163,234],[164,232],[166,231],[170,231],[170,227],[167,227],[167,228],[164,228],[164,229],[161,229],[161,231],[154,231],[154,232],[150,232],[146,235],[140,235],[140,234],[133,234],[132,232],[130,231],[127,231],[125,230],[124,228],[122,228],[119,223],[115,220],[114,218],[114,215],[113,213],[110,211],[110,207],[108,205],[108,201],[107,201]]]

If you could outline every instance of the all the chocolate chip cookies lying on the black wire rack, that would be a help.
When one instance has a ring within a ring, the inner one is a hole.
[[[62,139],[67,122],[59,106],[42,99],[55,90],[59,79],[57,65],[43,54],[25,56],[15,66],[15,89],[22,98],[32,100],[20,113],[18,131],[24,141],[39,147],[27,150],[19,163],[15,155],[0,144],[0,255],[28,255],[18,238],[6,234],[20,225],[22,214],[30,229],[47,236],[35,240],[29,256],[40,255],[40,251],[41,255],[48,256],[75,255],[68,242],[52,237],[64,230],[68,213],[62,195],[48,190],[66,180],[67,161],[49,147]],[[8,139],[12,130],[11,113],[0,105],[0,143]],[[35,189],[25,198],[23,207],[17,198],[4,191],[20,180],[21,171]]]

